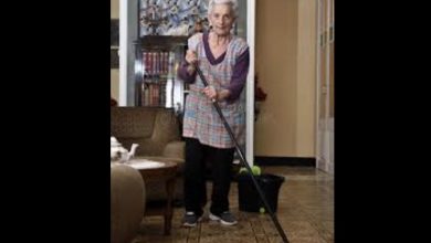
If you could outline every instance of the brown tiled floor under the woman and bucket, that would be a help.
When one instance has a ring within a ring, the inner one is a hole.
[[[276,216],[290,243],[334,242],[333,176],[311,167],[271,166],[262,167],[262,171],[286,179],[280,189]],[[210,182],[208,187],[211,187]],[[133,243],[283,242],[269,214],[239,211],[236,182],[231,186],[230,204],[239,218],[235,226],[222,226],[206,216],[197,228],[182,228],[185,210],[175,208],[171,235],[162,235],[161,216],[146,216]]]

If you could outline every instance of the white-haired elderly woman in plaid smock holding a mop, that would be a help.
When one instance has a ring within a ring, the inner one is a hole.
[[[186,62],[178,68],[179,77],[190,83],[182,134],[186,138],[185,226],[196,226],[203,214],[207,160],[211,162],[213,179],[209,218],[223,225],[236,224],[228,198],[234,144],[212,105],[219,103],[235,137],[243,140],[245,110],[239,96],[249,72],[249,46],[243,39],[232,35],[236,18],[236,0],[210,0],[210,32],[189,38]],[[197,76],[195,65],[199,65],[208,87]]]

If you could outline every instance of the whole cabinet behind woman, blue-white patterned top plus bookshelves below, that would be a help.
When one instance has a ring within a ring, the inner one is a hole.
[[[187,40],[198,25],[208,29],[208,1],[138,0],[135,46],[135,106],[175,108],[182,113],[185,84],[177,70]]]

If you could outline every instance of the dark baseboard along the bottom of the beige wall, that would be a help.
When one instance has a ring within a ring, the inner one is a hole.
[[[254,165],[316,167],[316,158],[255,156]]]

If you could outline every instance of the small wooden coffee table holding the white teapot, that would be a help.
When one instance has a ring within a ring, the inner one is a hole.
[[[172,198],[178,165],[166,160],[156,161],[141,158],[132,159],[127,165],[140,172],[145,183],[150,181],[166,183],[166,204],[164,207],[148,207],[147,203],[145,215],[162,215],[165,218],[165,234],[169,235],[172,225]]]

